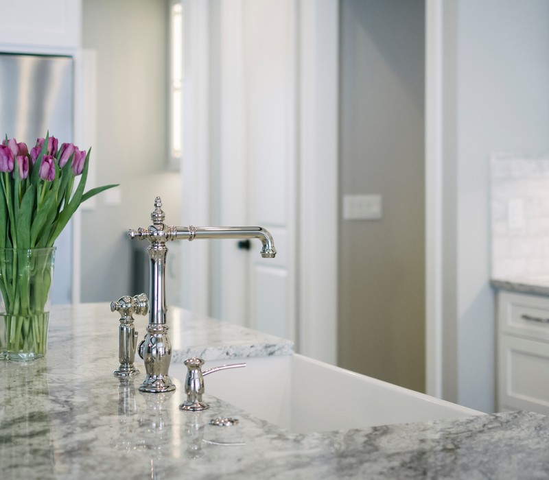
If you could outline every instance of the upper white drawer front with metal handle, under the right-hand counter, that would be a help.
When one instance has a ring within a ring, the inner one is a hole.
[[[500,333],[549,341],[549,298],[500,292],[498,319]]]

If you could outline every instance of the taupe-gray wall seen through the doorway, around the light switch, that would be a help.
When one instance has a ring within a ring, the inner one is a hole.
[[[338,361],[423,391],[423,0],[341,0],[340,195],[381,194],[379,221],[340,220]]]

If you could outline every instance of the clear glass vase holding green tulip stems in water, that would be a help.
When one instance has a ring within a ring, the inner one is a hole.
[[[55,247],[0,248],[0,357],[46,355]]]

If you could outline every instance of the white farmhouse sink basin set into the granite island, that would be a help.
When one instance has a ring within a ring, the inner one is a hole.
[[[482,414],[297,354],[209,361],[204,368],[241,361],[246,368],[206,376],[206,394],[295,433]],[[170,367],[181,380],[185,370]]]

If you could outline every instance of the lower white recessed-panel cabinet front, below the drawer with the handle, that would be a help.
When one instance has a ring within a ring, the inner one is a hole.
[[[549,344],[500,336],[498,405],[549,415]]]

